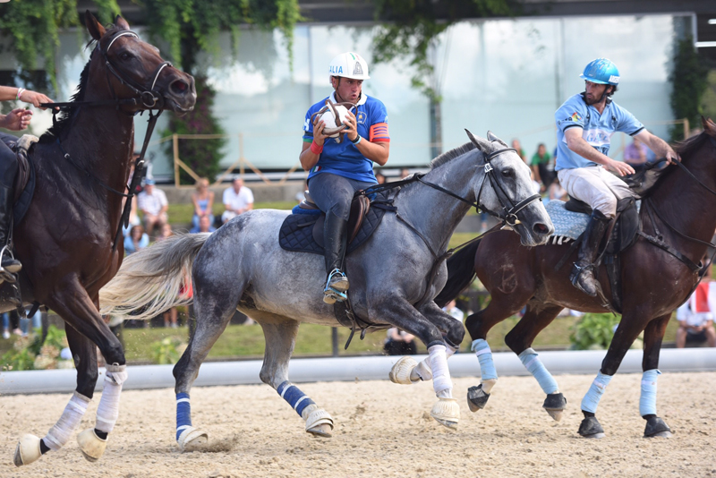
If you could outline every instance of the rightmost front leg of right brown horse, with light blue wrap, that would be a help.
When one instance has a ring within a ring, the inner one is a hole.
[[[639,414],[646,420],[644,437],[670,437],[671,429],[656,414],[656,380],[659,374],[661,340],[666,333],[671,314],[652,320],[644,329],[644,359],[642,360],[642,396],[639,398]]]

